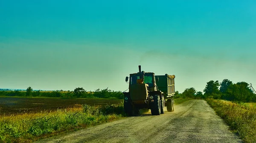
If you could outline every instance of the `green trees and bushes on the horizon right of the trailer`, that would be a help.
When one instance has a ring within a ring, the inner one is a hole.
[[[228,101],[241,102],[256,102],[256,94],[250,89],[247,82],[241,81],[236,84],[229,79],[224,79],[222,82],[209,81],[204,88],[204,94],[201,91],[196,91],[194,87],[187,88],[183,93],[175,92],[175,98],[215,98]]]

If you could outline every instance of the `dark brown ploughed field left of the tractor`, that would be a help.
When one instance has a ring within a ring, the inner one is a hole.
[[[119,99],[0,97],[0,115],[56,111],[76,104],[116,104]]]

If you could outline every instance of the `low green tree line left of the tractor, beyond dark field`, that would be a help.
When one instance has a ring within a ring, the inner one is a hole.
[[[44,92],[40,90],[33,91],[32,87],[28,87],[25,91],[0,91],[0,96],[20,96],[20,97],[57,97],[57,98],[111,98],[123,99],[124,95],[121,91],[113,91],[108,88],[95,91],[86,91],[83,87],[77,87],[74,91],[56,90]]]

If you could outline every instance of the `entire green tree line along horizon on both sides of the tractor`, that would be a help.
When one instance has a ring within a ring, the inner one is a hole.
[[[250,89],[247,82],[241,81],[234,84],[228,79],[222,82],[209,81],[204,88],[204,93],[196,91],[194,87],[186,88],[183,93],[175,92],[174,98],[215,98],[229,101],[256,102],[256,94]],[[23,96],[23,97],[57,97],[57,98],[113,98],[123,99],[121,91],[113,91],[108,88],[95,91],[86,91],[82,87],[77,87],[74,91],[56,90],[52,92],[33,91],[31,87],[23,91],[0,91],[0,96]]]

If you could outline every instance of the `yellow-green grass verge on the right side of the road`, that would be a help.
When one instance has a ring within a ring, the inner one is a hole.
[[[246,143],[256,142],[255,106],[212,98],[206,101]]]

